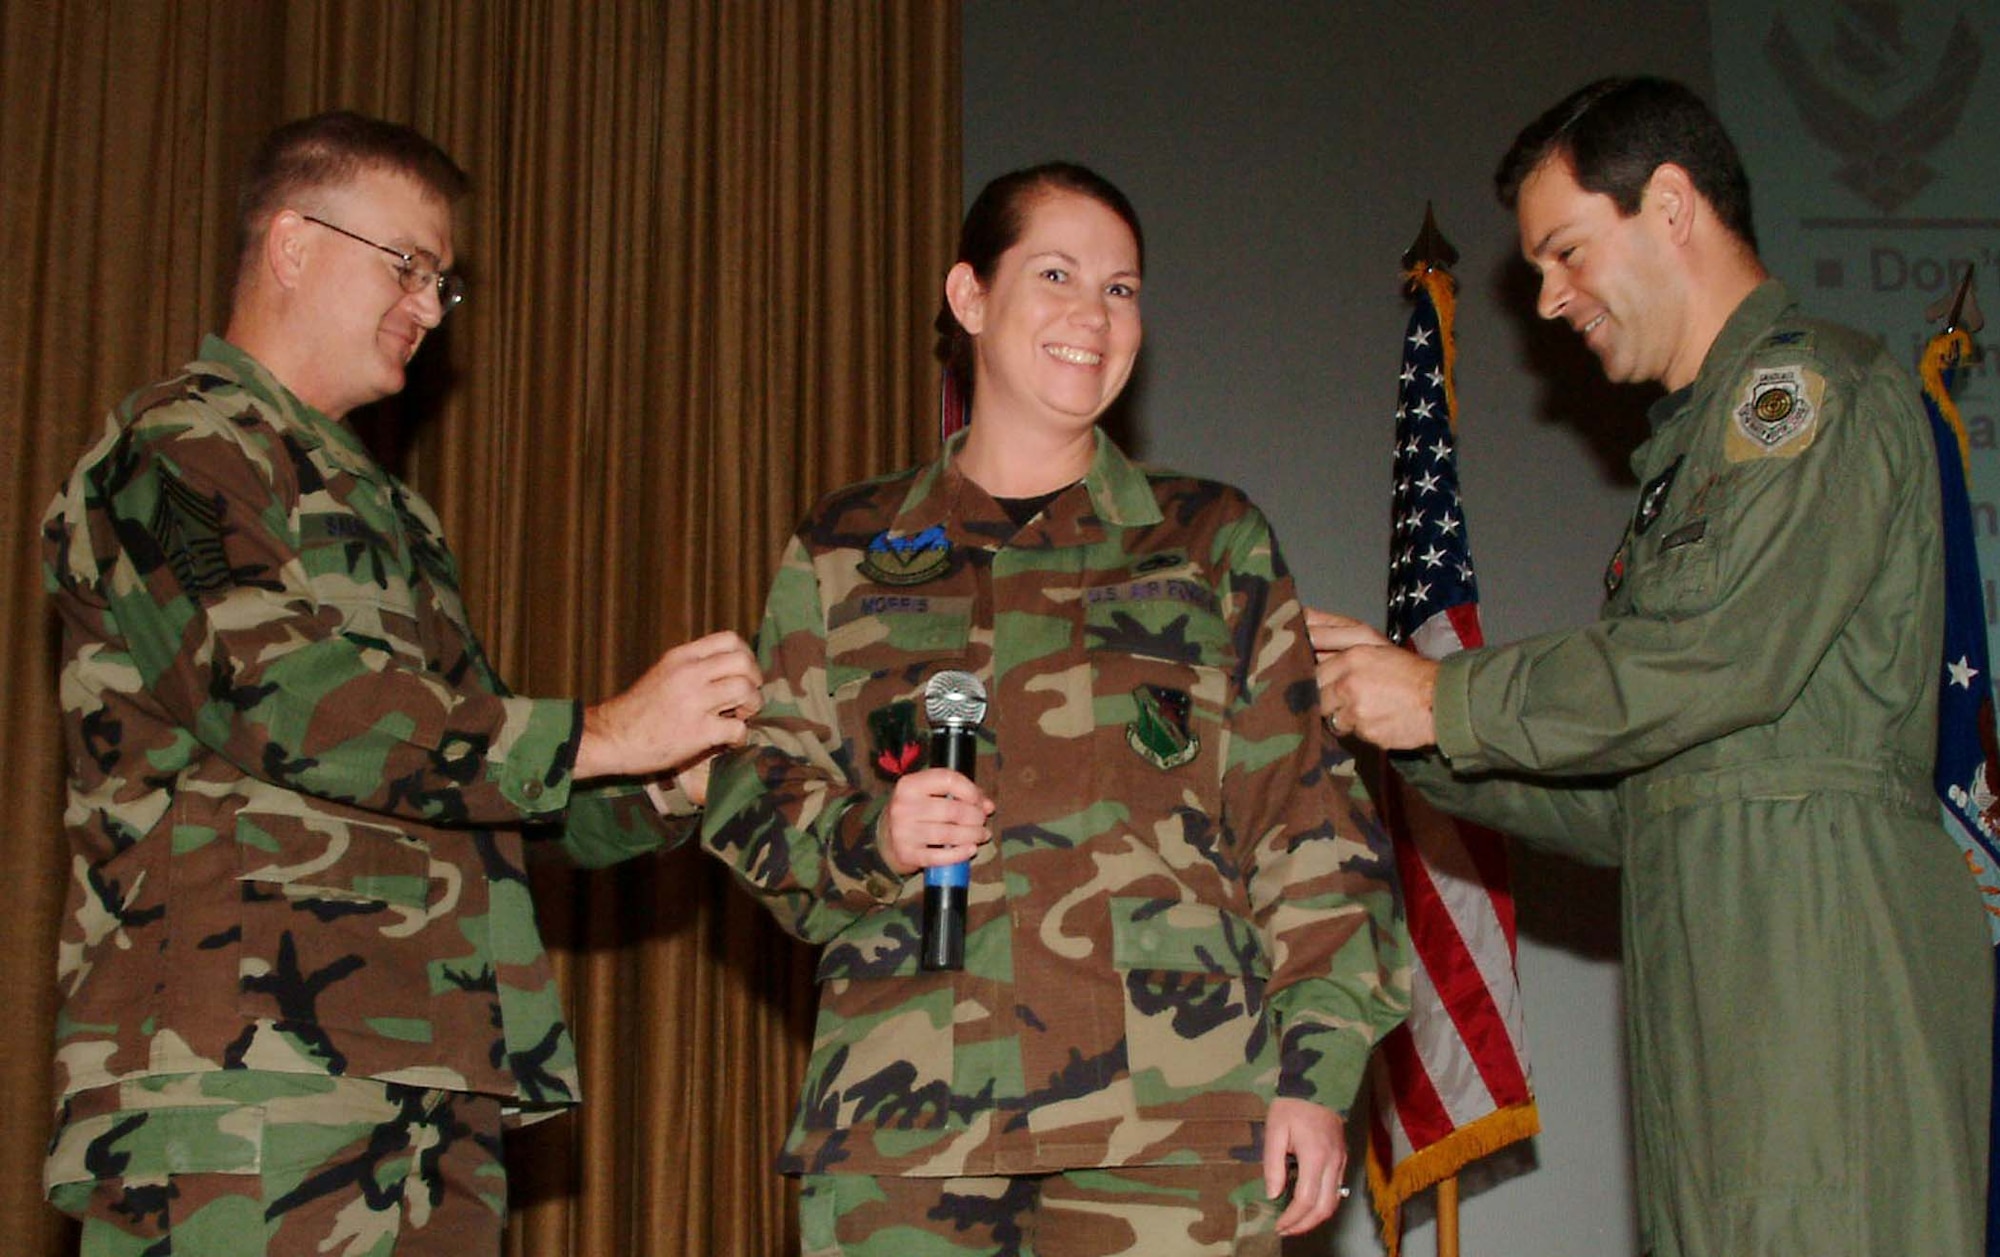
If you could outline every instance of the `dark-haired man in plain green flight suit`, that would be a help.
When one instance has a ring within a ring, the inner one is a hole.
[[[1970,1257],[1992,969],[1930,771],[1930,428],[1758,262],[1708,106],[1594,82],[1498,172],[1540,314],[1668,394],[1596,624],[1428,663],[1314,612],[1320,705],[1438,805],[1622,869],[1652,1257]]]

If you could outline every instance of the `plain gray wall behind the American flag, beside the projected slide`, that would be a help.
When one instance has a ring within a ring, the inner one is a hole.
[[[968,0],[964,38],[968,198],[1060,156],[1144,218],[1146,350],[1118,436],[1244,486],[1306,598],[1376,622],[1396,270],[1434,202],[1462,254],[1460,476],[1486,633],[1596,612],[1648,394],[1606,388],[1564,328],[1534,324],[1490,174],[1522,122],[1598,74],[1710,90],[1704,4]],[[1468,1175],[1462,1251],[1636,1253],[1616,881],[1524,855],[1516,885],[1544,1133]],[[1288,1251],[1378,1253],[1368,1223],[1356,1195]],[[1436,1253],[1434,1225],[1404,1251]]]

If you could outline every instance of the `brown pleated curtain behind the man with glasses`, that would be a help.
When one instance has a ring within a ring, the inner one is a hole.
[[[126,390],[224,318],[236,172],[286,118],[410,122],[476,180],[462,310],[362,416],[444,516],[522,693],[756,628],[810,500],[930,456],[958,218],[948,0],[0,0],[0,1223],[40,1203],[60,837],[34,538]],[[510,1251],[796,1251],[770,1171],[810,957],[680,851],[536,869],[586,1103],[516,1135]]]

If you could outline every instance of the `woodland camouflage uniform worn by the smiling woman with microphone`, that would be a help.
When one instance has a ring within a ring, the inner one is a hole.
[[[1072,1243],[1096,1241],[1086,1215],[1150,1211],[1186,1219],[1174,1251],[1276,1253],[1266,1117],[1344,1115],[1410,977],[1382,833],[1312,719],[1292,580],[1240,492],[1148,472],[1102,432],[1088,476],[1018,528],[958,442],[794,536],[758,639],[766,707],[704,821],[826,945],[780,1159],[806,1175],[804,1247],[834,1251],[866,1211],[860,1233],[904,1245],[882,1251],[1028,1251],[1044,1193],[1044,1215],[1082,1219]],[[924,879],[876,835],[924,763],[940,669],[990,695],[994,841],[962,973],[918,969]],[[914,1207],[938,1179],[944,1205]],[[1190,1233],[1218,1213],[1240,1231]],[[1122,1251],[1130,1231],[1102,1229],[1092,1251]]]

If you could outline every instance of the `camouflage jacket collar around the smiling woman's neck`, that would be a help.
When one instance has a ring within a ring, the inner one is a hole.
[[[1042,510],[1036,522],[1016,530],[1006,508],[990,492],[958,470],[958,450],[964,432],[944,442],[936,462],[918,472],[904,494],[890,536],[916,536],[924,528],[944,526],[952,544],[998,548],[1000,544],[1082,544],[1102,536],[1106,526],[1134,528],[1158,524],[1160,502],[1152,496],[1146,472],[1126,458],[1102,430],[1092,430],[1096,452],[1084,472],[1082,492],[1072,484]]]

